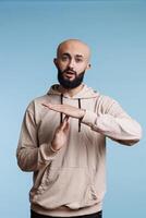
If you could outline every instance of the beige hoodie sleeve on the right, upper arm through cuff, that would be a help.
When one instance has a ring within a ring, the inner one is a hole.
[[[82,120],[89,125],[93,131],[99,132],[121,144],[133,145],[142,137],[141,125],[133,120],[120,105],[109,98],[104,97],[97,104],[97,112],[86,110]]]

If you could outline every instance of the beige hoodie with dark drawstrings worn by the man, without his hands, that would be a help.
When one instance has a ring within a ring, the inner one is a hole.
[[[69,104],[86,110],[80,122],[70,118],[66,145],[58,153],[51,141],[63,114],[41,104]],[[133,145],[142,136],[139,124],[119,104],[84,85],[74,97],[62,96],[58,85],[26,109],[17,147],[17,164],[34,171],[32,209],[49,216],[80,216],[99,211],[106,192],[106,136]]]

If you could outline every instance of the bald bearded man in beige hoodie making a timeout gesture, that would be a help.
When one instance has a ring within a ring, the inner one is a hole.
[[[16,156],[22,170],[34,172],[32,218],[101,218],[106,137],[133,145],[142,136],[115,100],[83,84],[89,58],[83,41],[61,43],[59,84],[26,109]]]

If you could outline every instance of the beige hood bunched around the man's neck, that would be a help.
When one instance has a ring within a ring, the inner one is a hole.
[[[61,94],[59,90],[59,84],[54,84],[50,87],[50,89],[47,93],[48,95],[63,95],[63,97],[72,98],[72,99],[87,99],[87,98],[95,98],[99,95],[96,90],[94,90],[92,87],[87,87],[85,84],[76,95],[73,97],[70,97],[68,94]]]

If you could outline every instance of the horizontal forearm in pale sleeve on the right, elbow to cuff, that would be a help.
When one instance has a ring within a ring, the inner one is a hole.
[[[132,145],[142,137],[139,124],[129,117],[115,118],[111,114],[97,116],[94,112],[86,111],[82,122],[89,125],[92,130],[122,144]]]

